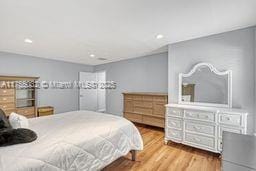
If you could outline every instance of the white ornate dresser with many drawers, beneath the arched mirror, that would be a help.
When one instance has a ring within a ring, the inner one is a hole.
[[[247,112],[234,108],[166,105],[166,143],[171,140],[220,153],[223,131],[245,134]]]

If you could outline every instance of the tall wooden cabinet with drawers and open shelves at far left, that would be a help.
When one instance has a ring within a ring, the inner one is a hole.
[[[12,112],[28,118],[36,117],[37,77],[0,76],[0,108],[8,116]]]

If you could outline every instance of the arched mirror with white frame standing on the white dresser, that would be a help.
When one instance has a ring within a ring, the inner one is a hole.
[[[218,71],[209,63],[179,74],[179,103],[232,107],[232,71]]]

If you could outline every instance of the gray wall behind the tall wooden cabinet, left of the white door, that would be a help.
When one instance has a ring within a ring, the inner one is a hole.
[[[38,76],[45,81],[78,80],[80,71],[92,66],[0,52],[0,75]],[[38,90],[38,105],[51,105],[55,113],[78,110],[78,89]]]

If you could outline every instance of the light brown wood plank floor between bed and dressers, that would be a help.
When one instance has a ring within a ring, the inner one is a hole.
[[[137,125],[144,150],[137,153],[135,162],[131,155],[121,157],[104,171],[220,171],[218,155],[189,146],[169,142],[164,145],[163,129]]]

